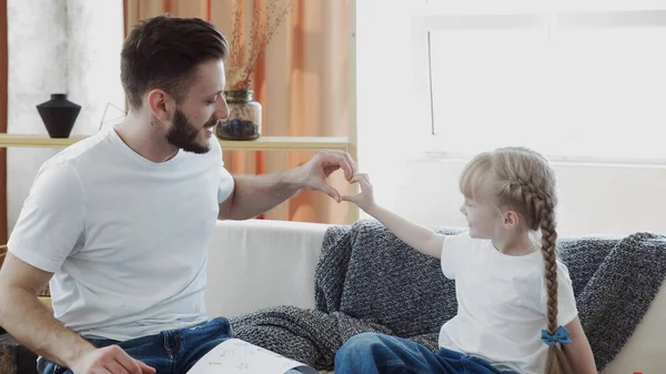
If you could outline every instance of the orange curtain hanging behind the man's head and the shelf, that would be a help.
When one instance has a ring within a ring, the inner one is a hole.
[[[124,0],[125,34],[139,20],[170,12],[211,21],[230,37],[233,2],[244,10],[243,27],[252,24],[253,1],[268,0]],[[289,0],[280,0],[286,6]],[[281,23],[260,60],[254,98],[263,108],[263,135],[346,137],[347,0],[292,0],[293,10]],[[249,33],[246,32],[245,36]],[[310,160],[313,152],[224,151],[234,174],[282,171]],[[347,191],[342,175],[331,184]],[[266,219],[345,223],[349,206],[321,193],[303,191],[265,214]]]

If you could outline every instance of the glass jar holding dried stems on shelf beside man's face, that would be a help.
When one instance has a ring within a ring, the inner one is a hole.
[[[261,137],[261,104],[252,99],[252,91],[226,91],[224,97],[229,118],[218,123],[218,138],[254,140]]]

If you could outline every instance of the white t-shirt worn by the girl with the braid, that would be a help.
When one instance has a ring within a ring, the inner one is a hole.
[[[440,346],[484,358],[502,370],[542,374],[547,345],[546,287],[541,251],[512,256],[468,233],[445,236],[444,275],[455,280],[457,315],[442,326]],[[558,323],[578,312],[568,270],[557,261]]]

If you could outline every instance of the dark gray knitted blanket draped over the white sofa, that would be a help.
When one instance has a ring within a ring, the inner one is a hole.
[[[571,237],[562,239],[558,249],[602,370],[629,338],[666,276],[666,237]],[[240,316],[231,321],[234,336],[330,370],[340,346],[363,332],[410,338],[436,351],[440,327],[457,310],[454,282],[444,277],[438,261],[375,221],[327,230],[314,286],[315,310],[275,306]]]

